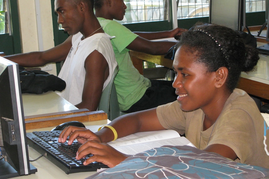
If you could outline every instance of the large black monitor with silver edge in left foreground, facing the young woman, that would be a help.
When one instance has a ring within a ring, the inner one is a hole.
[[[0,57],[0,179],[29,175],[29,163],[18,64]]]

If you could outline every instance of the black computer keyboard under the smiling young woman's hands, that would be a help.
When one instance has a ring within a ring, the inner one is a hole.
[[[27,133],[27,142],[37,152],[45,154],[44,156],[61,168],[67,174],[76,172],[91,172],[99,168],[107,168],[103,163],[93,162],[89,165],[83,165],[83,162],[91,157],[88,155],[81,160],[76,160],[76,152],[81,145],[76,140],[72,145],[67,142],[59,143],[58,137],[61,131],[40,131]]]

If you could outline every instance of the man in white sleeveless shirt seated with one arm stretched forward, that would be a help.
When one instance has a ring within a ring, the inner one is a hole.
[[[62,44],[43,52],[6,56],[20,66],[37,67],[65,60],[59,78],[66,89],[57,92],[78,108],[97,110],[103,89],[117,66],[111,37],[93,12],[94,0],[55,0],[58,23],[70,35]]]

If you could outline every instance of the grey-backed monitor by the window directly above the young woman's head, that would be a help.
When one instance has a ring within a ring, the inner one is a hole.
[[[210,0],[209,22],[243,31],[246,27],[245,0]]]

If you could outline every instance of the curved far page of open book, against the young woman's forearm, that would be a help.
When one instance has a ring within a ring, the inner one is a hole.
[[[131,144],[139,144],[144,142],[170,139],[174,137],[180,137],[179,133],[175,130],[159,130],[159,131],[148,131],[148,132],[138,132],[131,134],[115,141],[108,142],[112,147],[125,146]]]

